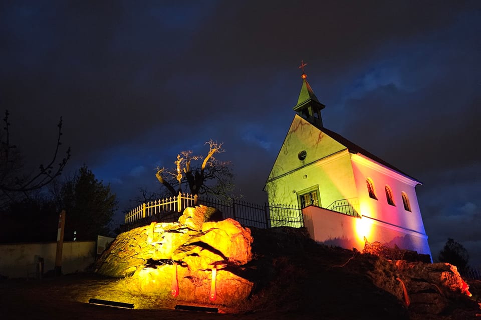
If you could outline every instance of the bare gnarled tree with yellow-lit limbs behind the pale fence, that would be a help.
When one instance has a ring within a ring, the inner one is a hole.
[[[157,167],[155,176],[172,195],[186,191],[182,185],[188,187],[191,194],[209,194],[222,199],[231,199],[234,189],[233,174],[230,161],[220,161],[215,155],[224,152],[222,142],[209,140],[205,145],[209,151],[205,156],[193,155],[192,150],[177,154],[174,161],[175,168],[166,170]],[[196,165],[193,161],[202,162]]]

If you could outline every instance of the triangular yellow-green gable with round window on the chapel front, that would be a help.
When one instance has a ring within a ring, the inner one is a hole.
[[[345,145],[296,114],[268,181],[343,149]]]

